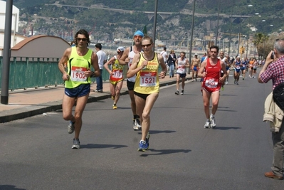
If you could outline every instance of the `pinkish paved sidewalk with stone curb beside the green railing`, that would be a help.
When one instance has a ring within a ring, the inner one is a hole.
[[[187,74],[186,79],[189,78]],[[160,86],[176,83],[177,78],[159,79]],[[96,84],[91,84],[91,92],[88,102],[96,102],[98,100],[110,98],[110,84],[108,81],[103,83],[103,93],[95,93]],[[9,104],[0,104],[0,123],[19,120],[33,115],[40,115],[45,112],[52,112],[62,109],[62,98],[64,86],[38,88],[28,90],[16,90],[9,92]],[[128,93],[126,80],[123,82],[121,95]]]

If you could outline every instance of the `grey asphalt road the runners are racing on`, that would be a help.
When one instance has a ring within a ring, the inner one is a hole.
[[[226,85],[214,130],[203,127],[199,82],[186,83],[184,95],[162,88],[147,152],[137,152],[128,95],[117,110],[110,98],[85,107],[81,149],[71,149],[61,110],[0,124],[0,189],[283,189],[264,176],[273,157],[262,122],[271,86],[256,78]]]

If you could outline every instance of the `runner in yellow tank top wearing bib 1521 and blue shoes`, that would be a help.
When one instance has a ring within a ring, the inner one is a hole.
[[[144,36],[142,38],[142,48],[143,53],[135,55],[127,72],[127,78],[137,74],[134,93],[137,114],[140,115],[142,123],[142,138],[138,151],[145,151],[149,148],[149,115],[159,96],[159,77],[164,78],[167,73],[164,58],[152,50],[153,39],[151,37]],[[158,74],[159,65],[162,67],[162,72]]]

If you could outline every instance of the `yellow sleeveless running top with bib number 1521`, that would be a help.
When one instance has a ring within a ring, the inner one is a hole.
[[[144,60],[146,59],[143,57],[143,54],[140,53],[140,60],[137,67],[142,65]],[[158,69],[158,56],[157,53],[154,53],[154,58],[152,60],[148,60],[148,65],[137,73],[134,91],[141,94],[159,93]]]

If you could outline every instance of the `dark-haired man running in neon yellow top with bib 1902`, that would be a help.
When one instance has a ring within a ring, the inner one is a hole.
[[[90,93],[90,76],[98,77],[100,68],[98,56],[88,48],[90,43],[89,33],[80,30],[75,34],[75,47],[67,48],[59,60],[58,68],[65,81],[65,93],[62,100],[63,119],[69,120],[67,131],[69,134],[75,130],[73,149],[80,149],[79,134],[82,127],[82,115]],[[68,61],[68,72],[64,63]],[[93,65],[95,72],[90,70]],[[75,105],[75,113],[72,107]]]

